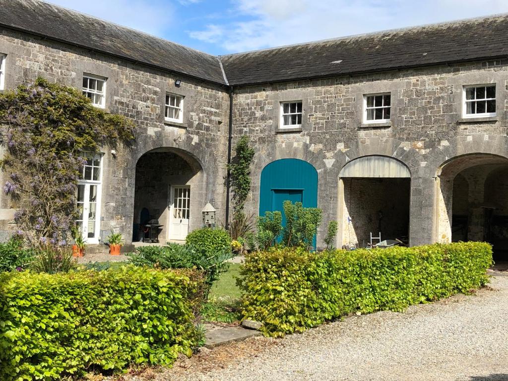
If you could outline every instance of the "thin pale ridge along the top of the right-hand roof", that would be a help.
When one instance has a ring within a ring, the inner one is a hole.
[[[424,29],[429,27],[438,27],[438,26],[449,26],[454,23],[461,23],[466,21],[474,21],[474,20],[485,20],[489,18],[497,18],[497,17],[507,17],[508,12],[506,13],[496,13],[493,15],[487,15],[487,16],[479,16],[479,17],[469,17],[469,18],[463,18],[463,19],[456,19],[456,20],[449,20],[449,21],[441,21],[441,22],[435,22],[435,23],[429,23],[429,24],[421,24],[421,25],[412,25],[412,26],[404,26],[401,28],[394,28],[394,29],[385,29],[385,30],[376,30],[369,33],[360,33],[357,35],[349,35],[349,36],[342,36],[342,37],[333,37],[329,39],[323,39],[323,40],[315,40],[315,41],[308,41],[308,42],[301,42],[296,44],[289,44],[289,45],[280,45],[280,46],[274,46],[272,48],[264,48],[264,49],[253,49],[253,50],[246,50],[243,52],[237,52],[237,53],[231,53],[231,54],[222,54],[219,55],[219,57],[232,57],[235,55],[242,55],[242,54],[248,54],[248,53],[257,53],[257,52],[265,52],[270,50],[277,50],[277,49],[284,49],[284,48],[291,48],[296,46],[305,46],[305,45],[313,45],[313,44],[324,44],[327,42],[336,42],[336,41],[342,41],[342,40],[350,40],[350,39],[356,39],[360,37],[374,37],[374,36],[381,36],[385,35],[387,33],[397,33],[401,31],[408,31],[408,30],[415,30],[415,29]]]

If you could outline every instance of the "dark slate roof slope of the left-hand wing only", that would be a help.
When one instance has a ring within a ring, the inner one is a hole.
[[[0,25],[191,77],[225,83],[216,56],[41,1],[2,0]]]

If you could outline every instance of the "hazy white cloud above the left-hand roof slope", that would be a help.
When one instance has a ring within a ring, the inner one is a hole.
[[[163,0],[48,0],[78,12],[161,36],[173,18],[174,9]],[[187,0],[196,1],[196,0]]]

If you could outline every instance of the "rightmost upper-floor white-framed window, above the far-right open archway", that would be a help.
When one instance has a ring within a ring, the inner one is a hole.
[[[496,85],[464,86],[464,117],[496,115]]]

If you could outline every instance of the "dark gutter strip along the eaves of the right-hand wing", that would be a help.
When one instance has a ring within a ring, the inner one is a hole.
[[[362,74],[373,74],[373,73],[386,73],[391,71],[405,70],[405,69],[416,69],[416,68],[432,68],[436,66],[442,65],[453,65],[455,63],[464,63],[464,62],[476,62],[483,61],[485,59],[498,59],[498,58],[508,58],[508,53],[500,54],[500,55],[492,55],[492,56],[484,56],[484,57],[476,57],[476,58],[467,58],[467,59],[456,59],[452,61],[440,61],[434,63],[427,63],[423,65],[411,65],[411,66],[398,66],[390,69],[378,69],[378,70],[359,70],[356,72],[345,72],[345,73],[331,73],[331,74],[323,74],[323,75],[312,75],[312,76],[303,76],[303,77],[294,77],[290,79],[277,79],[274,81],[260,81],[260,82],[245,82],[245,83],[231,83],[232,86],[235,87],[247,87],[247,86],[259,86],[263,84],[270,83],[283,83],[283,82],[294,82],[294,81],[305,81],[312,79],[326,79],[326,78],[334,78],[339,76],[353,76],[353,75],[362,75]]]

